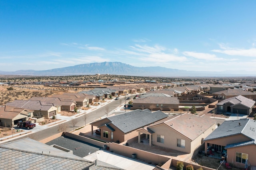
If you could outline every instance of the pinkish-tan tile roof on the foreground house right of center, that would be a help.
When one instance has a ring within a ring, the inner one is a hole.
[[[190,140],[196,139],[215,123],[216,121],[214,119],[206,115],[199,117],[187,113],[164,122],[164,124],[183,134]]]

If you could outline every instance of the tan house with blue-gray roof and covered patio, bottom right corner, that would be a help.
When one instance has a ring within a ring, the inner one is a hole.
[[[244,168],[256,166],[256,121],[240,119],[224,121],[204,139],[205,153],[211,146],[215,154],[226,154],[226,160],[234,166]],[[246,161],[247,160],[247,161]]]

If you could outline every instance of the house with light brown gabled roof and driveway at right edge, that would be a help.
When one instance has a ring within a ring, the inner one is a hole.
[[[217,112],[230,112],[250,115],[255,101],[241,95],[225,99],[217,103]]]

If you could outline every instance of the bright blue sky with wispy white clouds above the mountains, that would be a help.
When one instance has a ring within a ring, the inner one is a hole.
[[[256,71],[255,0],[0,0],[0,70]]]

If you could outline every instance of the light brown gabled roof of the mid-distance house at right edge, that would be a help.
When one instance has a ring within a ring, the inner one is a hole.
[[[225,99],[225,100],[221,101],[220,103],[217,103],[217,105],[224,105],[226,103],[231,103],[232,105],[241,104],[241,105],[244,105],[248,108],[251,108],[251,107],[254,106],[255,101],[253,101],[251,99],[248,99],[244,96],[239,95],[239,96],[235,96],[235,97]]]

